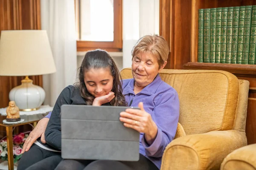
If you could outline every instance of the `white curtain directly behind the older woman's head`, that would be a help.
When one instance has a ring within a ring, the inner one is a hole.
[[[159,34],[159,0],[123,0],[123,68],[131,67],[131,49],[146,34]]]

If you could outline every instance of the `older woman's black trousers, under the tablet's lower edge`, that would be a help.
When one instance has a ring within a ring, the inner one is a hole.
[[[55,170],[158,170],[145,156],[139,161],[62,160]]]

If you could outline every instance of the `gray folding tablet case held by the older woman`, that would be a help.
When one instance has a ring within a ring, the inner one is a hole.
[[[140,133],[119,121],[126,108],[62,105],[62,158],[138,161]]]

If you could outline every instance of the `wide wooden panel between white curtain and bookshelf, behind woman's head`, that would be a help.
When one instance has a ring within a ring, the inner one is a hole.
[[[165,68],[182,69],[190,61],[191,3],[160,0],[160,35],[170,46]]]

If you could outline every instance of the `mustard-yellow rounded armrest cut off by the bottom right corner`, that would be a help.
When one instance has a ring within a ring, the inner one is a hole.
[[[256,170],[256,144],[234,150],[222,162],[221,170]]]

